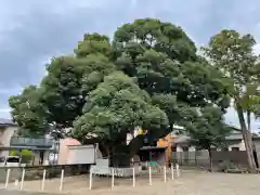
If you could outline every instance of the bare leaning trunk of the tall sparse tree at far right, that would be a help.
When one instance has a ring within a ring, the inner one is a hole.
[[[237,116],[238,116],[238,119],[239,119],[242,133],[243,133],[243,139],[244,139],[245,146],[246,146],[248,168],[249,168],[250,172],[256,172],[257,167],[256,167],[256,162],[255,162],[255,159],[253,159],[253,153],[252,153],[251,133],[247,130],[245,117],[244,117],[244,114],[243,114],[243,108],[239,105],[239,103],[237,103],[237,102],[236,102],[236,112],[237,112]]]

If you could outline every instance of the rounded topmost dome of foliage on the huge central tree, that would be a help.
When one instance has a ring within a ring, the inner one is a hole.
[[[141,18],[122,25],[114,35],[114,46],[116,51],[128,53],[132,60],[144,49],[155,49],[181,63],[197,57],[194,42],[181,27],[156,18]]]

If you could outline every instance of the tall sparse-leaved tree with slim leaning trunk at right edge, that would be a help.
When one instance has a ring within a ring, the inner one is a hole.
[[[251,133],[246,126],[244,110],[250,112],[248,98],[257,93],[259,86],[258,56],[252,51],[255,44],[256,40],[251,35],[242,36],[235,30],[222,30],[213,36],[208,47],[205,48],[212,65],[230,80],[229,93],[234,99],[250,170],[256,170],[256,164],[252,155]]]

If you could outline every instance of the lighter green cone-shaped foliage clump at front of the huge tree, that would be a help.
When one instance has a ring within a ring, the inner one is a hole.
[[[83,115],[74,126],[78,140],[82,139],[81,134],[93,133],[101,139],[119,141],[120,136],[126,140],[126,134],[138,126],[151,129],[151,133],[168,128],[168,118],[152,105],[150,95],[132,78],[115,72],[89,93]]]

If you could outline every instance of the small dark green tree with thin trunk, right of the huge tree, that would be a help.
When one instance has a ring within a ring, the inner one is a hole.
[[[209,152],[210,171],[212,170],[211,147],[221,148],[225,144],[225,136],[232,128],[224,123],[223,112],[219,107],[206,106],[197,112],[193,120],[186,126],[187,135],[193,144]]]

